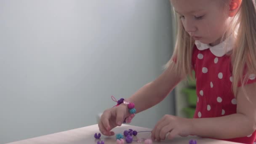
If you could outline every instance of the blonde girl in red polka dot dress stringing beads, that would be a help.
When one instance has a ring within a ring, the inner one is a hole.
[[[165,115],[152,139],[196,135],[246,144],[256,141],[255,0],[171,0],[177,40],[166,70],[128,98],[136,113],[162,101],[195,70],[197,107],[193,119]],[[101,133],[129,117],[126,104],[104,111]],[[167,136],[167,137],[165,137]]]

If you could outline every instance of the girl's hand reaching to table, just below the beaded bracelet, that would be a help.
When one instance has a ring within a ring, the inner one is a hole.
[[[115,128],[117,125],[121,126],[125,117],[128,116],[129,112],[126,104],[120,104],[117,107],[105,110],[99,120],[99,131],[105,136],[115,135],[115,133],[110,130]]]

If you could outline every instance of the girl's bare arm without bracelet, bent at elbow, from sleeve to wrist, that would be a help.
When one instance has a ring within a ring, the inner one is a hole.
[[[237,93],[237,113],[223,117],[191,119],[191,135],[232,139],[251,135],[256,130],[256,83],[245,85]]]

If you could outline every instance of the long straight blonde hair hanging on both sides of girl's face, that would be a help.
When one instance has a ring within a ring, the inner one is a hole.
[[[230,2],[230,0],[228,1]],[[185,31],[177,14],[174,14],[177,27],[176,44],[173,57],[165,64],[165,68],[169,67],[174,59],[176,64],[172,66],[179,75],[189,74],[192,76],[192,51],[195,41]],[[235,48],[231,53],[232,91],[236,96],[238,85],[242,85],[245,93],[244,84],[251,74],[256,74],[256,0],[243,0],[230,26],[226,35],[230,34],[236,39]]]

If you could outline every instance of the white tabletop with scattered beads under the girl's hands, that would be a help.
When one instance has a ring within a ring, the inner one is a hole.
[[[151,131],[149,128],[142,128],[133,125],[122,125],[113,129],[115,134],[122,133],[125,130],[133,129],[136,131]],[[45,136],[35,137],[32,139],[25,139],[22,141],[16,141],[8,144],[96,144],[97,141],[94,138],[94,134],[99,133],[98,125],[91,125],[83,128],[77,128],[69,131],[63,131],[59,133],[53,133]],[[138,137],[149,138],[150,132],[138,133]],[[136,138],[134,138],[136,139]],[[161,142],[154,142],[154,144],[189,144],[190,139],[195,139],[197,144],[238,144],[229,141],[220,141],[215,139],[203,139],[197,136],[180,137],[177,136],[172,140],[165,140]],[[115,136],[101,135],[101,140],[104,140],[105,144],[116,144]],[[126,144],[126,142],[125,142]],[[132,144],[138,144],[133,142]]]

